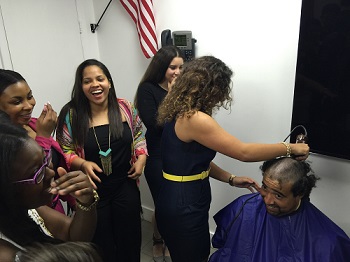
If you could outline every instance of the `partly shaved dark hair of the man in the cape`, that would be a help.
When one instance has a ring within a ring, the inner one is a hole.
[[[298,161],[291,157],[280,157],[265,161],[260,167],[263,176],[268,175],[280,184],[292,182],[293,196],[310,199],[312,188],[316,187],[317,177],[306,161]]]

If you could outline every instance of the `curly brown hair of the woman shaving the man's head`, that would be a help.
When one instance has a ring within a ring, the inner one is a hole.
[[[232,101],[232,76],[232,70],[213,56],[188,62],[159,106],[158,124],[191,117],[197,111],[211,116],[214,109],[228,109]]]

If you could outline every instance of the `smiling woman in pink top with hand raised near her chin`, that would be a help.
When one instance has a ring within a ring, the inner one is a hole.
[[[33,118],[35,104],[32,90],[23,76],[12,70],[0,69],[0,110],[8,114],[14,124],[26,129],[29,136],[35,139],[44,150],[52,150],[55,172],[60,166],[68,171],[70,167],[65,161],[62,149],[51,136],[56,127],[57,113],[50,103],[47,103],[39,118]],[[73,198],[58,195],[52,201],[52,208],[65,213],[59,199],[67,201],[69,209],[75,209]]]

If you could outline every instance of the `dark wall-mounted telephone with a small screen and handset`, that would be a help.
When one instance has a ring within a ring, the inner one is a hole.
[[[181,49],[185,56],[185,61],[190,61],[195,57],[194,44],[196,39],[192,38],[191,31],[174,31],[164,30],[161,34],[162,46],[175,45]]]

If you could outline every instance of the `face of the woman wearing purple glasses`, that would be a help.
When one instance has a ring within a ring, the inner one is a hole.
[[[43,149],[34,139],[28,138],[23,149],[17,155],[12,174],[13,182],[33,178],[45,160]],[[52,195],[47,192],[55,172],[48,167],[43,168],[45,177],[39,184],[14,184],[16,198],[21,206],[27,209],[48,205]]]

